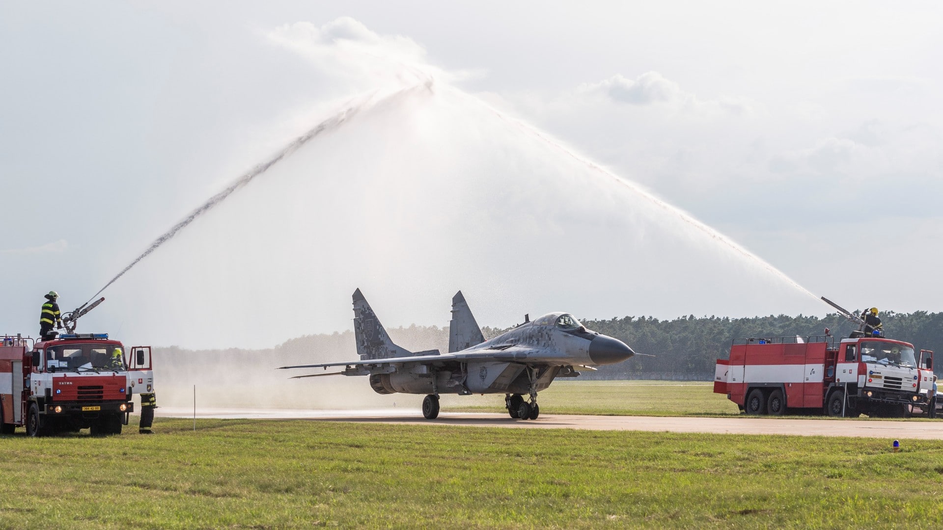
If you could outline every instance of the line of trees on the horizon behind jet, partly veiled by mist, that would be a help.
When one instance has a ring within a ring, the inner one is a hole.
[[[859,311],[860,313],[860,311]],[[903,340],[918,349],[934,350],[943,355],[943,312],[885,312],[881,315],[888,339]],[[712,380],[718,358],[727,358],[730,345],[739,338],[771,338],[821,336],[829,328],[835,338],[847,336],[852,323],[835,313],[824,317],[769,315],[765,317],[729,318],[695,317],[688,315],[672,320],[653,317],[626,316],[609,320],[583,320],[587,328],[622,340],[639,354],[629,360],[598,371],[584,371],[587,379],[700,379]],[[484,327],[486,339],[510,328]],[[438,349],[447,352],[449,328],[436,325],[410,325],[388,328],[389,337],[410,351]],[[192,367],[205,363],[223,375],[232,370],[234,378],[243,377],[243,370],[256,367],[263,373],[279,378],[288,376],[273,371],[274,366],[313,364],[318,362],[356,359],[356,345],[351,331],[333,334],[306,335],[266,350],[202,350],[191,351],[175,346],[156,348],[161,370]],[[943,359],[943,356],[940,357]],[[937,366],[943,366],[943,361]],[[941,372],[943,373],[943,372]],[[292,373],[294,374],[294,373]],[[166,373],[171,376],[171,373]]]

